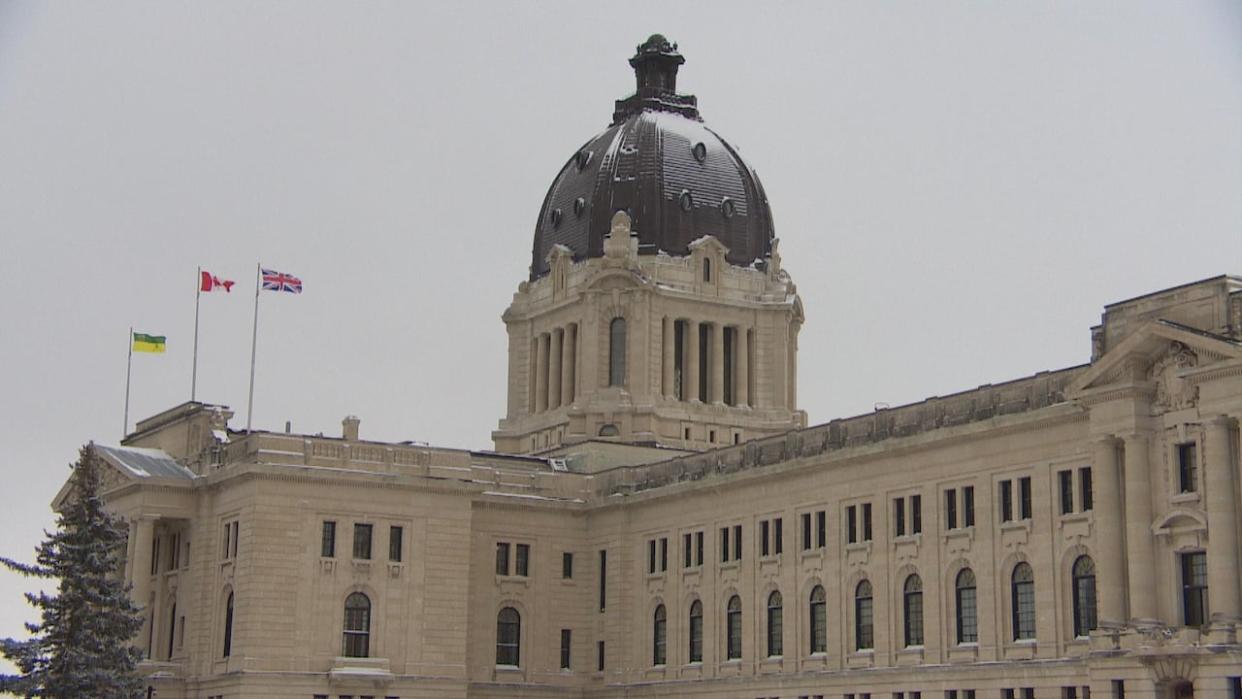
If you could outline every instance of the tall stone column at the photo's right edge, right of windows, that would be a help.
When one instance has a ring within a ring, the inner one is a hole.
[[[1237,504],[1233,492],[1233,453],[1230,448],[1230,418],[1206,421],[1203,497],[1207,499],[1207,598],[1212,620],[1233,621],[1242,616],[1238,601]]]

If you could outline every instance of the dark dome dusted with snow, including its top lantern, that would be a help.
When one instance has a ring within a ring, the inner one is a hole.
[[[630,65],[637,91],[620,99],[612,124],[579,148],[553,181],[539,220],[530,278],[548,272],[563,245],[575,259],[601,257],[612,214],[626,211],[638,253],[688,255],[715,236],[727,259],[746,266],[771,251],[771,210],[759,178],[703,124],[693,96],[677,94],[677,45],[652,35]]]

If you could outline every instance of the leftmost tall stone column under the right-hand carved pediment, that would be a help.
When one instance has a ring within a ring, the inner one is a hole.
[[[1125,562],[1122,555],[1122,480],[1117,471],[1117,438],[1092,444],[1095,489],[1095,598],[1102,626],[1125,623]]]

